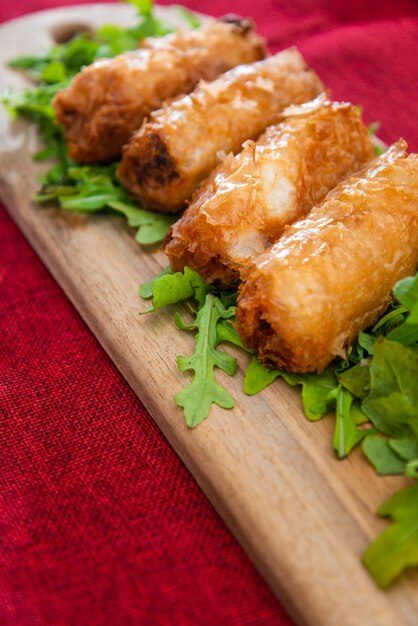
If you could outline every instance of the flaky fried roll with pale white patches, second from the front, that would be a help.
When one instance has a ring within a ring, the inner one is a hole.
[[[175,270],[231,285],[343,176],[373,156],[356,108],[320,96],[289,107],[283,122],[249,141],[202,184],[165,242]]]

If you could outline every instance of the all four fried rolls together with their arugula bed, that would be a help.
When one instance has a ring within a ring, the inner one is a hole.
[[[153,299],[148,311],[193,299],[191,320],[175,316],[196,343],[193,354],[177,359],[181,371],[193,372],[174,397],[186,424],[201,423],[212,404],[234,406],[215,371],[236,371],[237,359],[218,346],[243,347],[237,311],[246,345],[276,368],[253,354],[246,394],[278,377],[302,385],[309,420],[335,411],[338,458],[362,442],[379,474],[416,479],[418,274],[404,277],[418,265],[418,156],[400,141],[329,192],[364,165],[371,145],[352,105],[324,96],[308,102],[325,88],[296,49],[257,62],[264,40],[235,17],[144,40],[173,29],[147,3],[139,11],[136,26],[104,26],[11,64],[37,85],[9,91],[3,102],[39,125],[46,147],[35,158],[55,159],[36,201],[117,211],[139,227],[138,242],[155,244],[201,183],[166,239],[173,268],[183,271],[168,268],[140,290]],[[214,82],[198,85],[202,78]],[[55,95],[64,133],[54,119]],[[153,211],[138,206],[116,177],[124,144],[121,180]],[[79,163],[93,163],[75,164],[68,148]],[[239,280],[236,307],[236,293],[225,286]],[[363,562],[382,587],[418,565],[416,503],[415,483],[379,509],[396,523]]]

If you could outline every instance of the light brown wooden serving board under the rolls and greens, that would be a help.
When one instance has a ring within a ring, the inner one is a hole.
[[[173,11],[161,14],[178,21]],[[0,28],[0,89],[25,84],[7,59],[48,48],[74,25],[133,19],[130,7],[94,5],[9,22]],[[295,621],[416,625],[418,572],[381,592],[360,563],[387,524],[375,516],[378,505],[404,479],[377,477],[359,453],[337,461],[332,421],[307,422],[298,391],[285,383],[246,397],[241,354],[233,379],[218,374],[236,407],[215,407],[188,430],[172,397],[185,383],[175,357],[191,352],[193,338],[174,328],[172,311],[139,315],[138,285],[167,265],[164,256],[142,250],[122,219],[34,206],[36,148],[35,129],[0,107],[2,201]]]

